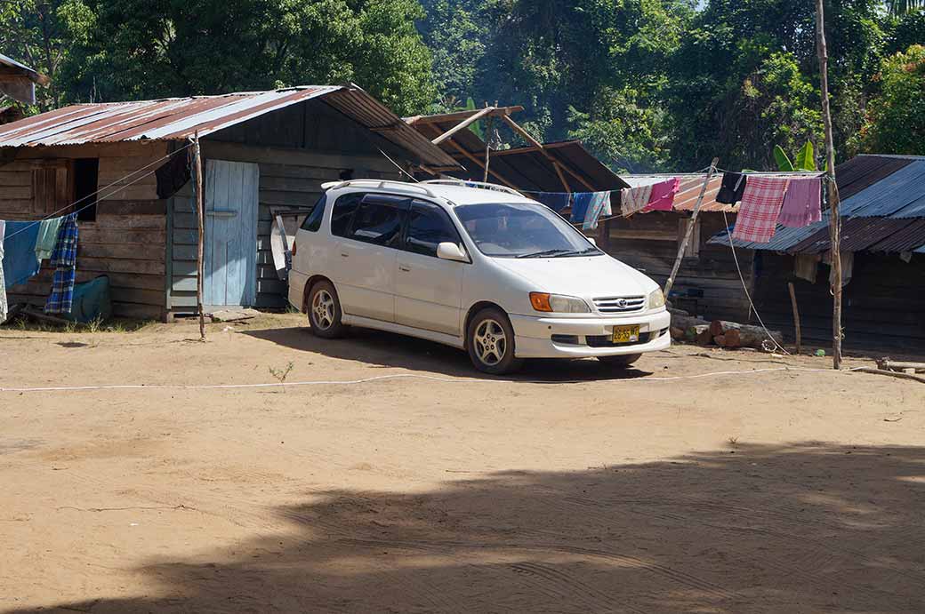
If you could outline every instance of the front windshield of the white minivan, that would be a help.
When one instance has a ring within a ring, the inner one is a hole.
[[[543,204],[462,204],[454,211],[475,246],[487,256],[560,258],[602,253]]]

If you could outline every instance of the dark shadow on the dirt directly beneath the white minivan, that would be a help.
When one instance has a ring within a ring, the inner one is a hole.
[[[399,367],[456,377],[486,377],[475,370],[463,350],[440,343],[368,328],[351,327],[345,338],[314,337],[306,326],[242,331],[242,335],[272,341],[292,350],[323,354],[341,360],[367,362],[383,367]],[[524,368],[504,379],[537,382],[633,379],[651,375],[635,367],[615,368],[594,359],[580,361],[529,360]]]

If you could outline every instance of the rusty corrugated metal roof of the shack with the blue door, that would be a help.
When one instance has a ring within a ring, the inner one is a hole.
[[[0,127],[0,147],[179,141],[197,131],[206,136],[312,98],[322,98],[365,128],[416,154],[425,164],[456,166],[450,155],[354,85],[306,85],[269,92],[73,104]]]

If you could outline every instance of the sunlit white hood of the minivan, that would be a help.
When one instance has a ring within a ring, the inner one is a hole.
[[[659,285],[635,268],[608,255],[561,258],[493,258],[536,290],[583,299],[646,296]]]

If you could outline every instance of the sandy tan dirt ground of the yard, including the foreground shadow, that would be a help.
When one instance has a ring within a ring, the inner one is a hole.
[[[0,391],[0,610],[925,611],[918,382],[195,330],[0,329],[0,387],[177,386]]]

